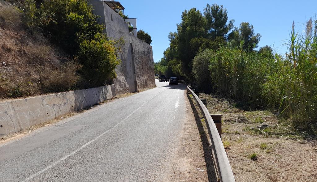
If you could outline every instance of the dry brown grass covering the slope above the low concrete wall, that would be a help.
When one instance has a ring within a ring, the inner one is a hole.
[[[41,33],[29,35],[18,9],[0,1],[0,99],[67,91],[76,85],[78,64],[62,63],[60,54]]]

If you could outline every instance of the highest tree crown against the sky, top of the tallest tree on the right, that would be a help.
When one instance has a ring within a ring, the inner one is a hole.
[[[226,8],[223,8],[223,5],[213,4],[210,6],[207,4],[204,9],[204,16],[207,21],[206,30],[212,40],[215,40],[216,37],[226,38],[228,32],[233,28],[234,20],[231,19],[227,23],[228,12]]]

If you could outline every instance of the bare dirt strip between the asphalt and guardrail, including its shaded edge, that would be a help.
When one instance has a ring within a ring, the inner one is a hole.
[[[186,124],[170,181],[216,181],[204,127],[195,106],[184,93]],[[193,108],[193,109],[192,109]]]

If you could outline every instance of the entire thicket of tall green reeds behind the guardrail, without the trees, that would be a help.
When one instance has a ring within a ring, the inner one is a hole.
[[[221,47],[199,53],[194,65],[209,60],[214,92],[276,110],[299,131],[313,132],[317,129],[317,20],[309,19],[303,34],[296,33],[293,23],[287,46],[285,56]]]

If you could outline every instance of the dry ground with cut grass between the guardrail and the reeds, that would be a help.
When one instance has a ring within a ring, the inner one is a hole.
[[[294,135],[285,119],[200,93],[222,114],[222,140],[236,181],[317,181],[317,141]],[[199,109],[198,109],[199,110]]]

